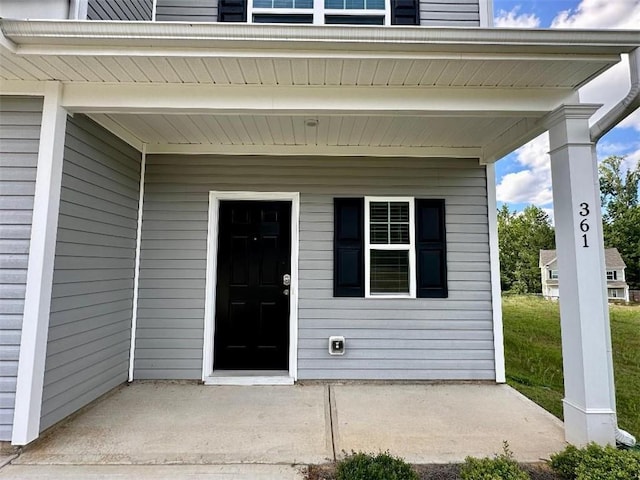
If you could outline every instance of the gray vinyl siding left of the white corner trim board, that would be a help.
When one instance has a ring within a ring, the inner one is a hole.
[[[0,96],[0,441],[11,440],[42,99]]]

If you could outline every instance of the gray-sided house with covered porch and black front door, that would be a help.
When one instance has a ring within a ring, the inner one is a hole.
[[[0,16],[0,441],[17,445],[127,380],[504,382],[494,162],[549,130],[554,188],[580,192],[556,222],[595,205],[598,105],[577,90],[640,45],[493,29],[488,0]],[[567,249],[579,286],[592,234],[581,262]],[[565,377],[609,388],[585,370]],[[567,391],[567,437],[612,438]]]

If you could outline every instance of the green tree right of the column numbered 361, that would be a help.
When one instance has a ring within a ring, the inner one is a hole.
[[[598,167],[604,243],[618,249],[627,264],[627,283],[640,288],[640,162],[624,171],[624,161],[611,156]]]

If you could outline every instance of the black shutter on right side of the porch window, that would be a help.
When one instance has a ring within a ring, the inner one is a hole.
[[[447,239],[444,200],[416,199],[418,298],[446,298]]]

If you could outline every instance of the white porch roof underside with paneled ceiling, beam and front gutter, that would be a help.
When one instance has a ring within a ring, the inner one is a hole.
[[[637,32],[0,20],[0,87],[148,151],[495,160]],[[317,120],[309,126],[307,120]]]

